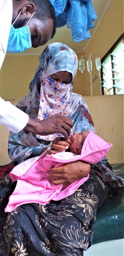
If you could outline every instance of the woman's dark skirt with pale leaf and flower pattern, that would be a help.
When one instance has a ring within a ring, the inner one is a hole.
[[[60,201],[23,204],[4,213],[16,182],[6,175],[0,184],[0,247],[4,256],[82,256],[92,244],[98,208],[111,193],[111,186],[98,175]]]

